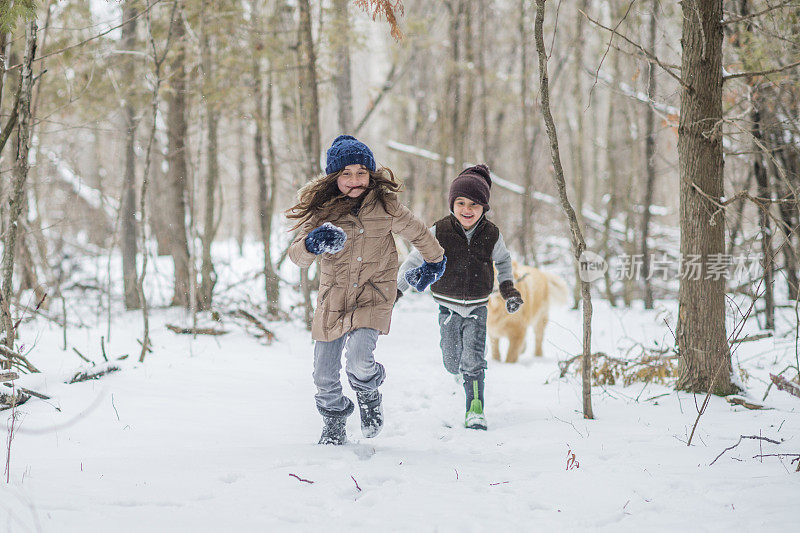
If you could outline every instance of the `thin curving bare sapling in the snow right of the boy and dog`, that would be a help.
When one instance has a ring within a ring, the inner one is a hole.
[[[558,150],[558,135],[553,115],[550,112],[550,88],[547,76],[547,52],[544,47],[544,3],[545,0],[536,0],[536,22],[534,35],[536,38],[536,51],[539,55],[539,95],[541,98],[542,115],[544,117],[547,136],[550,138],[550,155],[553,161],[554,181],[561,199],[571,231],[572,251],[575,261],[580,263],[581,255],[586,250],[586,242],[578,222],[578,217],[572,209],[567,197],[567,184],[564,179],[564,169],[561,167],[561,155]],[[581,110],[582,111],[582,110]],[[594,418],[592,412],[592,296],[589,283],[581,281],[581,295],[583,297],[583,355],[581,357],[581,383],[583,388],[583,417]]]

